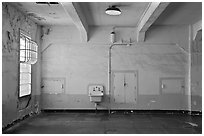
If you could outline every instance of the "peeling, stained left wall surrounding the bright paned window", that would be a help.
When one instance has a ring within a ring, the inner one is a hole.
[[[19,83],[19,28],[30,34],[38,44],[41,28],[26,18],[21,12],[2,3],[2,126],[12,123],[14,120],[38,109],[37,97],[40,95],[39,63],[32,67],[32,97],[27,108],[28,98],[18,98]],[[37,74],[39,75],[39,74]],[[38,93],[37,93],[38,91]],[[37,96],[38,95],[38,96]],[[24,109],[21,109],[24,108]]]

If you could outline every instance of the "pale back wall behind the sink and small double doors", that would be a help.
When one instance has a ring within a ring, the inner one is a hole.
[[[108,58],[111,27],[90,27],[90,40],[79,41],[75,27],[43,28],[42,78],[65,79],[61,94],[42,94],[43,109],[94,109],[89,84],[103,84],[105,96],[99,108],[108,109]],[[136,41],[136,28],[115,28],[116,42]],[[188,26],[153,26],[143,44],[112,49],[112,70],[137,70],[137,104],[111,104],[112,109],[189,109]],[[182,95],[160,94],[160,78],[182,77]],[[112,96],[111,96],[112,99]]]

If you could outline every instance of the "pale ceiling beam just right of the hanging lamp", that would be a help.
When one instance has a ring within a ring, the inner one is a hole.
[[[145,33],[160,14],[169,5],[169,2],[151,2],[137,25],[137,41],[145,41]]]

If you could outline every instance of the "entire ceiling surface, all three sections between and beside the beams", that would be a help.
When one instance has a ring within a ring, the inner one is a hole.
[[[61,4],[36,4],[35,2],[11,3],[30,16],[40,25],[74,25]],[[81,10],[90,26],[137,26],[138,21],[148,8],[148,2],[80,2]],[[122,11],[120,16],[109,16],[105,9],[117,5]],[[156,25],[192,24],[202,19],[202,3],[170,3],[154,22]]]

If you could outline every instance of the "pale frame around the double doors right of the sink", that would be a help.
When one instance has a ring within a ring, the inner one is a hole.
[[[138,70],[112,70],[111,71],[111,92],[110,92],[110,94],[111,94],[111,97],[110,97],[110,105],[111,105],[111,103],[114,103],[114,74],[115,73],[134,73],[134,74],[136,74],[136,86],[137,86],[137,88],[136,88],[136,92],[135,92],[135,97],[136,97],[136,103],[137,103],[137,98],[138,98],[138,94],[139,94],[139,72],[138,72]],[[110,108],[111,108],[111,106],[110,106]]]

